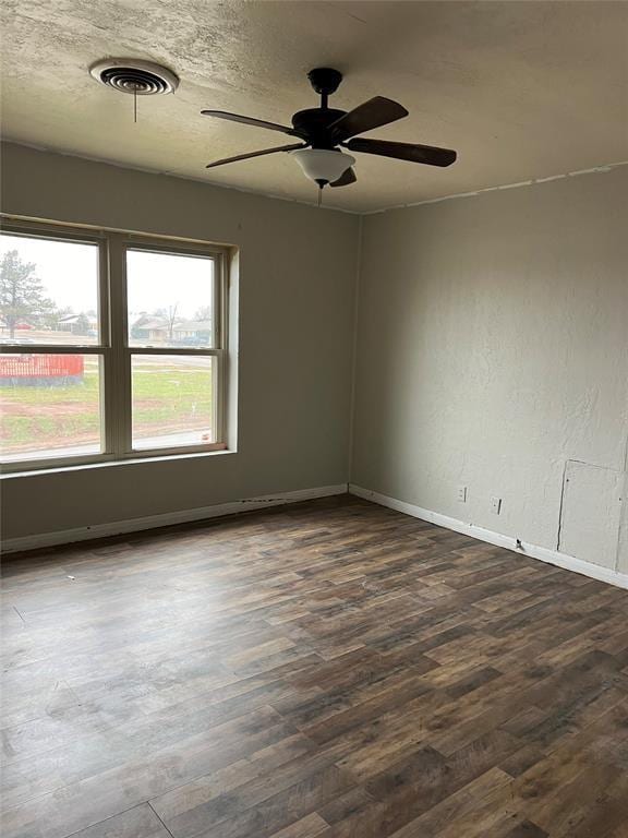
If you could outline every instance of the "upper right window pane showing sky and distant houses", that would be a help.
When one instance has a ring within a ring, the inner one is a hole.
[[[214,260],[126,251],[130,346],[213,346]]]

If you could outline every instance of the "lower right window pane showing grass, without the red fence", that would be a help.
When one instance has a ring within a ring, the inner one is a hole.
[[[134,355],[131,364],[134,448],[216,442],[214,358]]]

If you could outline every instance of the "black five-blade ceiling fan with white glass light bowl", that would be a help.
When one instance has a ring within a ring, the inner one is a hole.
[[[243,117],[239,113],[228,113],[225,110],[202,110],[201,112],[206,117],[279,131],[301,141],[274,148],[264,148],[261,152],[239,154],[235,157],[225,157],[208,164],[206,168],[212,169],[227,163],[247,160],[266,154],[291,152],[306,177],[323,189],[327,184],[348,187],[357,181],[353,171],[355,158],[342,152],[341,148],[362,154],[394,157],[410,163],[422,163],[427,166],[450,166],[456,160],[456,152],[450,148],[437,148],[418,143],[360,139],[357,134],[387,125],[389,122],[396,122],[398,119],[407,117],[408,111],[397,101],[384,96],[375,96],[349,112],[329,108],[327,105],[328,97],[338,89],[342,74],[338,70],[323,67],[311,70],[307,77],[314,91],[321,96],[321,106],[299,110],[292,117],[291,128],[279,125],[276,122],[265,122],[253,117]]]

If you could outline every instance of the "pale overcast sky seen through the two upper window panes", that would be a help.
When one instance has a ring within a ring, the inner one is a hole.
[[[83,244],[0,234],[0,256],[17,250],[25,262],[37,265],[46,296],[58,308],[76,314],[98,309],[98,250]],[[129,311],[154,312],[177,306],[177,316],[194,318],[212,303],[213,264],[205,259],[130,251],[128,254]]]

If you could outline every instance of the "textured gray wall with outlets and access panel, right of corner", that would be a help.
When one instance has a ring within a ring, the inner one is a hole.
[[[627,196],[624,167],[364,219],[353,483],[616,566]]]

